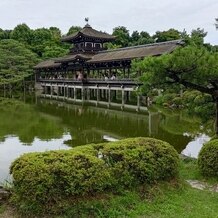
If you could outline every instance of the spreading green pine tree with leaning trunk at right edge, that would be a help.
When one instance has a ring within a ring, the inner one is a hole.
[[[172,85],[210,94],[216,102],[216,129],[218,134],[218,53],[204,47],[186,46],[171,54],[149,57],[134,63],[136,70],[143,72],[142,92]]]

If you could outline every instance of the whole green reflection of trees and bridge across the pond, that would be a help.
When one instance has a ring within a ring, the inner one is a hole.
[[[72,140],[65,144],[73,147],[103,142],[104,135],[116,139],[150,136],[168,141],[181,151],[199,133],[197,120],[170,111],[153,109],[137,114],[43,99],[31,104],[15,100],[0,103],[0,139],[17,135],[23,143],[31,144],[35,137],[50,140],[69,132]],[[185,132],[191,134],[184,136]]]

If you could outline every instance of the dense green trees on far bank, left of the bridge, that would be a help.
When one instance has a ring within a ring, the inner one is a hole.
[[[26,24],[13,30],[0,29],[0,86],[20,83],[33,75],[33,66],[40,60],[63,56],[69,45],[62,44],[61,31],[30,29]]]

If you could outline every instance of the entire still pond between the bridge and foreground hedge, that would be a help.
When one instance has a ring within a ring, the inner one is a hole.
[[[155,137],[197,157],[212,130],[182,112],[151,107],[143,113],[46,99],[0,99],[0,184],[23,153],[70,149],[127,137]]]

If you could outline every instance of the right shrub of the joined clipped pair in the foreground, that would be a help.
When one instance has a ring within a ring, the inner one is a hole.
[[[116,187],[168,180],[178,173],[177,151],[161,140],[124,139],[104,144],[99,151],[112,169]]]

